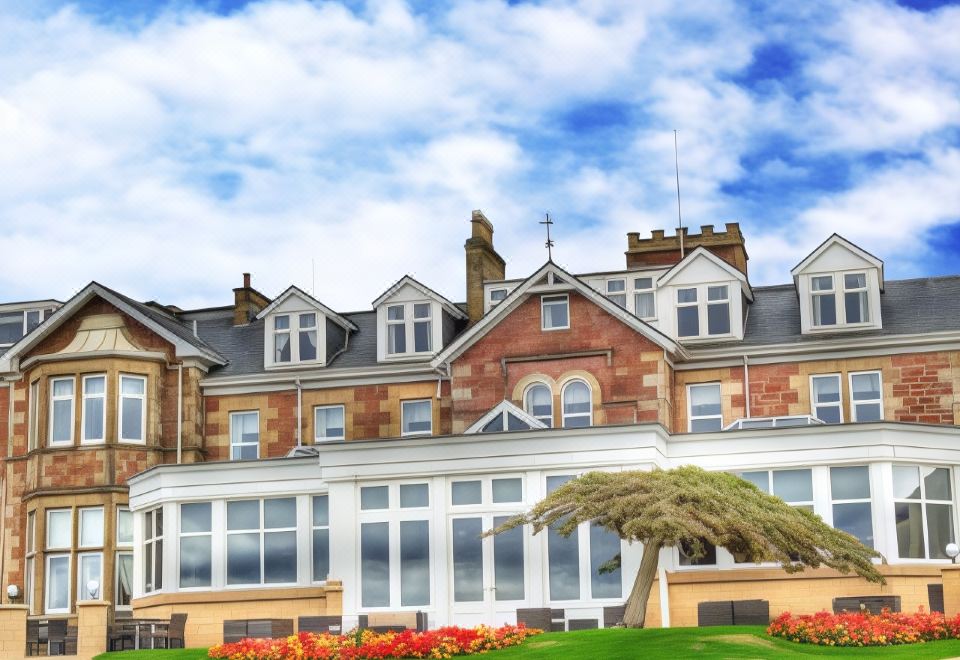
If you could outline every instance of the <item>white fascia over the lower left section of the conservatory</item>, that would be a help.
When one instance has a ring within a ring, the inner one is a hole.
[[[326,489],[315,457],[159,465],[129,480],[130,509],[165,501],[299,495]]]

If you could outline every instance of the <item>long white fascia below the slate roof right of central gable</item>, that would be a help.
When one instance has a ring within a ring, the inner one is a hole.
[[[678,371],[719,368],[743,364],[743,357],[751,364],[780,362],[807,362],[837,358],[875,357],[907,352],[931,353],[960,350],[960,332],[953,330],[910,335],[870,337],[843,337],[789,344],[763,346],[732,346],[730,348],[693,349],[688,359],[677,363]]]

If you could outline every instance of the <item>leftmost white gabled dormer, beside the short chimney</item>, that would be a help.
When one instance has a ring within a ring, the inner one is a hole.
[[[322,367],[341,351],[357,326],[295,286],[265,307],[263,365],[267,369]]]

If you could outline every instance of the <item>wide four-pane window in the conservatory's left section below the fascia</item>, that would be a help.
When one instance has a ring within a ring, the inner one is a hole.
[[[227,584],[296,581],[296,499],[227,502]]]

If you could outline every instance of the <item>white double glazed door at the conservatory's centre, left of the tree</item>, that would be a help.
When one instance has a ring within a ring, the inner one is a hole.
[[[526,534],[522,527],[481,538],[510,514],[450,518],[450,597],[455,625],[516,623],[526,607]]]

